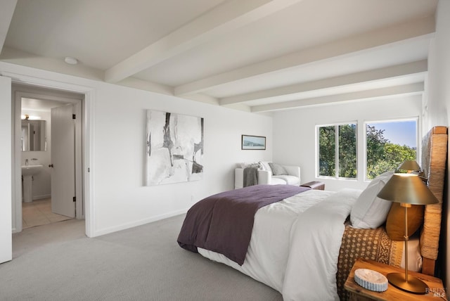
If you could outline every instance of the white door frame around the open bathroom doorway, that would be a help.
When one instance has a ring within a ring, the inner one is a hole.
[[[4,77],[11,77],[12,86],[14,84],[20,85],[20,87],[29,87],[32,89],[49,89],[53,90],[55,93],[64,93],[67,91],[68,93],[76,93],[83,94],[84,100],[79,102],[79,111],[82,112],[82,120],[80,123],[77,122],[77,139],[80,139],[81,143],[79,143],[79,148],[75,151],[75,158],[79,160],[78,162],[82,162],[81,164],[77,164],[77,174],[79,174],[79,179],[76,179],[77,189],[81,189],[79,196],[82,196],[82,200],[84,202],[80,202],[77,204],[77,210],[83,211],[84,209],[84,219],[85,219],[85,233],[88,237],[95,236],[95,214],[94,214],[94,204],[92,200],[94,200],[94,174],[91,170],[91,166],[94,158],[94,98],[96,91],[92,87],[79,86],[75,84],[68,84],[65,82],[57,82],[50,79],[41,79],[38,77],[30,77],[27,75],[20,75],[13,72],[2,72],[1,74]],[[24,88],[26,89],[26,88]],[[22,181],[21,181],[21,170],[20,170],[20,143],[17,142],[16,137],[20,135],[16,135],[17,127],[20,128],[20,103],[19,109],[17,108],[16,94],[17,89],[15,87],[11,87],[11,109],[12,109],[12,117],[13,117],[13,137],[14,137],[14,149],[12,152],[12,165],[13,168],[11,170],[11,179],[13,181],[13,190],[12,190],[12,202],[13,208],[12,214],[15,214],[15,229],[16,232],[20,229],[22,230]],[[30,91],[25,91],[30,92]],[[32,92],[31,92],[32,93]],[[38,93],[39,94],[39,93]],[[35,95],[35,94],[34,94]],[[21,96],[23,97],[23,96]],[[21,97],[19,99],[21,99]],[[73,99],[72,99],[73,101]],[[19,149],[18,149],[19,148]],[[77,190],[78,193],[78,190]],[[83,204],[84,203],[84,204]],[[20,209],[20,210],[19,210]],[[20,217],[20,218],[18,218]]]

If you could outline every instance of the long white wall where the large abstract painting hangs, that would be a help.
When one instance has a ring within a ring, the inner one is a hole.
[[[92,89],[94,103],[89,110],[93,115],[93,136],[88,141],[92,143],[92,153],[87,154],[91,155],[88,177],[93,177],[93,186],[90,187],[92,217],[88,217],[94,221],[92,229],[88,230],[91,236],[186,212],[201,198],[232,189],[233,169],[237,162],[272,158],[272,118],[268,116],[10,63],[0,62],[0,73],[19,79],[29,77],[33,82],[50,87],[58,87],[62,82],[65,87],[74,85]],[[203,180],[143,186],[147,109],[204,118]],[[11,112],[11,101],[5,110]],[[0,133],[11,137],[11,124],[0,127]],[[266,151],[241,151],[241,134],[267,136]],[[11,162],[11,154],[1,155],[2,160]],[[11,177],[11,172],[8,177]],[[0,193],[1,200],[11,200],[4,191]]]

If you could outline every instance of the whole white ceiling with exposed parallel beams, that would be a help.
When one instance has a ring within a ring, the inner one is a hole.
[[[436,6],[0,0],[0,60],[252,112],[420,94]]]

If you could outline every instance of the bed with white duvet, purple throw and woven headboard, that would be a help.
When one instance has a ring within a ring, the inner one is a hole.
[[[413,264],[430,275],[439,246],[446,152],[447,129],[434,127],[423,139],[422,165],[439,203],[423,208],[411,243],[420,254]],[[378,182],[371,183],[372,193]],[[375,229],[354,228],[355,204],[368,188],[331,192],[281,186],[251,186],[198,202],[186,214],[179,245],[265,283],[283,300],[348,300],[343,286],[360,257],[401,265],[403,242],[391,239],[384,220]],[[387,211],[389,217],[393,209]]]

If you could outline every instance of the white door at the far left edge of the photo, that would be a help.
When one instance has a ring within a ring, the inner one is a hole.
[[[13,259],[11,225],[11,78],[0,76],[0,263]]]

